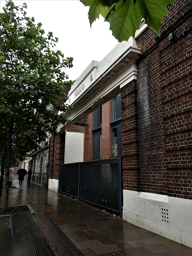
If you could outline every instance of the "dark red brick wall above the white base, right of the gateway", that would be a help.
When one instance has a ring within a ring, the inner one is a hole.
[[[129,111],[124,108],[122,112],[124,188],[192,199],[190,1],[170,4],[168,14],[162,23],[160,38],[148,28],[137,39],[138,48],[142,49],[137,63],[139,144],[134,128],[137,122],[134,103],[128,106]],[[182,37],[184,29],[187,35]],[[173,42],[168,39],[170,32],[175,35]],[[131,87],[129,83],[126,88],[130,90]],[[122,98],[125,101],[128,96],[124,90]],[[131,100],[130,96],[128,102]],[[128,127],[127,132],[125,127]],[[126,142],[131,140],[131,131],[132,144]]]

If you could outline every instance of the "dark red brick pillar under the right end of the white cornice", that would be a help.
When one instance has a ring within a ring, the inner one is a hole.
[[[140,190],[137,88],[133,80],[122,88],[123,187]]]

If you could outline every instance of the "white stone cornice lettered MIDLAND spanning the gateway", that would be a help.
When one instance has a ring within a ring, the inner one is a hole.
[[[128,82],[136,80],[136,60],[140,53],[136,41],[130,37],[128,42],[119,43],[102,62],[92,61],[68,93],[66,103],[73,111],[66,112],[65,116],[71,122],[58,126],[57,130],[65,130],[78,122],[118,95]]]

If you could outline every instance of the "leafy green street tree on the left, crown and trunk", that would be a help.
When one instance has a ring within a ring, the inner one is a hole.
[[[70,108],[64,102],[72,81],[63,70],[72,67],[73,59],[54,50],[58,38],[52,32],[44,36],[42,24],[26,16],[26,8],[25,3],[15,6],[10,0],[0,14],[0,146],[8,148],[4,208],[12,134],[19,134],[18,152],[24,154],[44,140],[47,131],[53,134],[59,123],[68,122],[58,112]]]

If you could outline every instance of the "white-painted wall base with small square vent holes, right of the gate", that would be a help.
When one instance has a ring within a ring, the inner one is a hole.
[[[123,219],[192,247],[192,200],[123,190]]]

